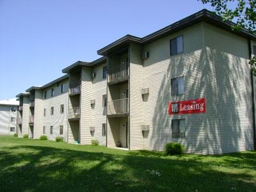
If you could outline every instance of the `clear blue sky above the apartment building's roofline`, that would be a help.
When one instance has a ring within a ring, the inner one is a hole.
[[[196,0],[0,0],[0,100],[63,76],[130,34],[143,37],[209,4]]]

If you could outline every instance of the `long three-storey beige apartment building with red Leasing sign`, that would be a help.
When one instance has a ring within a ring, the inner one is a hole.
[[[29,112],[35,115],[31,132],[36,121],[40,134],[42,126],[51,132],[54,118],[42,111],[51,114],[58,100],[68,111],[61,122],[67,122],[68,143],[98,140],[111,148],[163,150],[178,142],[196,154],[252,150],[256,79],[248,62],[256,56],[256,36],[231,26],[202,10],[143,38],[116,40],[97,51],[99,60],[64,68],[68,90],[52,104],[43,97],[55,91],[54,83],[20,95],[22,103],[42,97],[42,120],[35,118],[36,100]]]

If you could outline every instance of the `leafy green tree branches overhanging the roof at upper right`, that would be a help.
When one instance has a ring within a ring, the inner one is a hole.
[[[248,29],[250,33],[256,35],[256,0],[197,0],[202,3],[210,3],[216,13],[223,20],[233,21],[236,25],[234,30]],[[250,60],[253,75],[256,76],[256,58]]]

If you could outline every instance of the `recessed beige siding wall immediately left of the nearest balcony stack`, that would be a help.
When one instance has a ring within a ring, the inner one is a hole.
[[[92,99],[95,99],[95,105],[92,108],[92,126],[95,127],[92,139],[99,141],[99,145],[106,146],[106,136],[102,136],[102,124],[106,124],[106,109],[102,105],[102,97],[106,94],[107,79],[103,79],[103,67],[106,63],[93,68],[96,77],[92,79]],[[90,98],[88,98],[90,99]]]

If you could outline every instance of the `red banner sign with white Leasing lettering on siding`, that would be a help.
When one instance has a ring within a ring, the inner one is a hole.
[[[205,113],[205,99],[179,100],[177,102],[169,102],[169,115],[173,114],[190,114]]]

